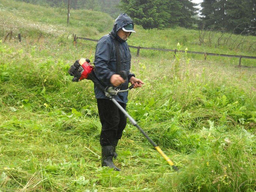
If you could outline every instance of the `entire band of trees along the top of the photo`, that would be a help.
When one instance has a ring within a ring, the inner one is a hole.
[[[68,0],[19,1],[63,8],[68,4]],[[191,0],[71,0],[71,9],[106,12],[113,18],[125,12],[144,29],[199,27],[256,35],[255,0],[203,0],[200,10],[197,5]]]

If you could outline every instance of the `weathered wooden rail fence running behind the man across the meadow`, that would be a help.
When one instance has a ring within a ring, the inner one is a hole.
[[[74,46],[76,45],[76,39],[83,39],[83,40],[87,40],[87,41],[95,41],[98,42],[98,40],[95,39],[89,39],[89,38],[84,38],[84,37],[77,37],[76,35],[74,35]],[[177,52],[177,49],[159,49],[159,48],[147,48],[147,47],[141,47],[141,46],[131,46],[129,45],[129,48],[135,48],[137,49],[137,56],[139,57],[140,54],[140,49],[147,49],[147,50],[158,50],[158,51],[167,51],[167,52],[174,52],[174,54]],[[180,50],[179,52],[185,53],[185,51]],[[210,56],[220,56],[220,57],[236,57],[239,58],[239,64],[238,67],[242,67],[241,66],[241,59],[245,58],[245,59],[256,59],[256,57],[254,56],[243,56],[243,55],[229,55],[229,54],[217,54],[217,53],[204,53],[204,52],[195,52],[195,51],[187,51],[187,53],[193,53],[193,54],[203,54],[204,55],[204,59],[206,59],[206,57],[208,55]],[[243,66],[246,67],[246,66]]]

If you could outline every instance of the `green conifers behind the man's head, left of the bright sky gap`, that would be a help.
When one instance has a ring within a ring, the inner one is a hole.
[[[144,29],[191,27],[197,10],[190,0],[121,0],[119,8]]]

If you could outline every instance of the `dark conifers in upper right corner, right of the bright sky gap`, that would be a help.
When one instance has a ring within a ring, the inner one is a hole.
[[[206,29],[256,35],[255,0],[203,0],[201,7]]]

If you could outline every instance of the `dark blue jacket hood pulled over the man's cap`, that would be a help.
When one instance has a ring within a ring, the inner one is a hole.
[[[115,38],[117,38],[117,31],[128,24],[132,24],[132,26],[134,27],[132,19],[127,14],[125,13],[120,14],[116,18],[113,29],[110,32],[110,34],[112,34]]]

